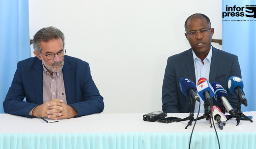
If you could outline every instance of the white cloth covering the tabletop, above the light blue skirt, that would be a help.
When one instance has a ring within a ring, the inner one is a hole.
[[[246,116],[256,118],[256,112],[244,112]],[[61,119],[55,123],[42,123],[39,118],[26,118],[10,114],[0,114],[0,133],[123,133],[123,132],[191,132],[192,126],[185,129],[188,121],[161,123],[143,121],[144,114],[93,114],[71,119]],[[199,116],[203,115],[200,113]],[[168,116],[185,118],[188,113],[168,113]],[[196,114],[194,116],[196,118]],[[226,121],[223,130],[219,132],[256,132],[256,122],[241,120]],[[198,120],[194,132],[212,132],[206,119]]]

